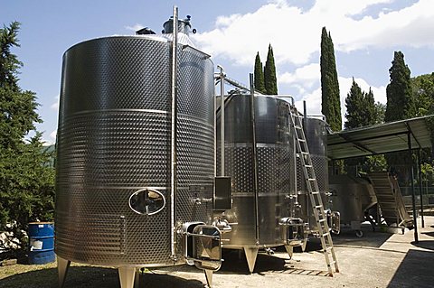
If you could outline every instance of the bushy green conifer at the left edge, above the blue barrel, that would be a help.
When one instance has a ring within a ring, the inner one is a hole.
[[[0,29],[0,231],[8,236],[0,247],[26,248],[25,231],[35,220],[51,220],[54,197],[52,153],[42,147],[41,134],[34,123],[35,94],[18,86],[23,65],[11,52],[18,46],[20,24]],[[24,142],[24,136],[35,136]]]

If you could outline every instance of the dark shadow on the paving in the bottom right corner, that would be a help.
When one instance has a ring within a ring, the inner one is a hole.
[[[432,287],[434,253],[410,249],[393,275],[388,288]]]

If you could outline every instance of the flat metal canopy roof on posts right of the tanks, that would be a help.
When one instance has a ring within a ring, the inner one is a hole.
[[[423,116],[327,135],[327,156],[344,159],[408,150],[409,134],[412,149],[432,147],[427,120],[433,117]]]

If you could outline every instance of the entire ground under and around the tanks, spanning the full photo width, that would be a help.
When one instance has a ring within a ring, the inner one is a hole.
[[[292,259],[283,250],[275,255],[260,254],[253,274],[245,259],[235,251],[225,254],[222,269],[213,276],[213,287],[434,287],[434,217],[426,217],[420,228],[420,242],[413,243],[413,231],[404,235],[373,232],[363,228],[365,237],[352,231],[334,237],[340,273],[325,274],[324,255],[316,251],[318,241],[311,241],[305,253]],[[57,287],[55,265],[28,267],[14,265],[14,270],[0,267],[0,288]],[[21,270],[20,270],[21,269]],[[36,270],[38,269],[38,270]],[[141,288],[203,288],[205,277],[189,266],[153,270],[140,277]],[[113,268],[73,265],[64,288],[118,288],[118,273]]]

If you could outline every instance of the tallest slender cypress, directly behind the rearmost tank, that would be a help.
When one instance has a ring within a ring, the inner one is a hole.
[[[341,100],[337,79],[335,48],[330,33],[321,33],[321,112],[333,131],[342,129]]]

